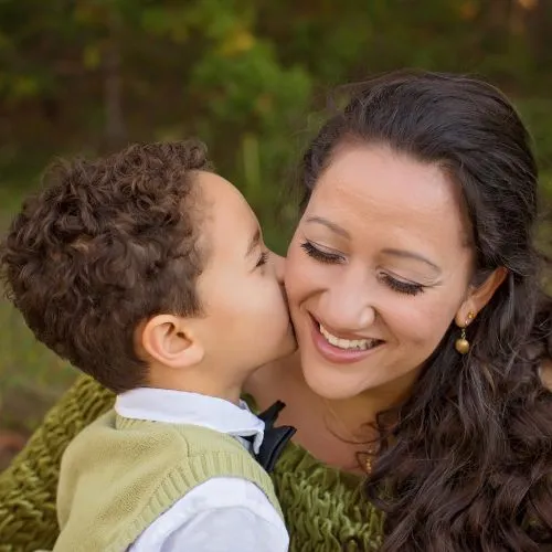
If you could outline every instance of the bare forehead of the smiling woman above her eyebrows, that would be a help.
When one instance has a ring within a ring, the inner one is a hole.
[[[385,147],[355,147],[335,156],[320,176],[304,221],[319,216],[362,240],[407,236],[461,246],[461,191],[436,163]]]

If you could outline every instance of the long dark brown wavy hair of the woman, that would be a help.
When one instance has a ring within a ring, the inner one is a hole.
[[[391,73],[363,83],[304,157],[309,201],[337,147],[381,144],[438,163],[460,188],[476,255],[474,284],[508,276],[456,352],[452,322],[399,421],[378,416],[381,454],[367,482],[384,512],[384,551],[552,550],[551,301],[533,247],[538,171],[508,99],[460,75]]]

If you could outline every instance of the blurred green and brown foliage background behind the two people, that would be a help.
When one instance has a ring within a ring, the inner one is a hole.
[[[287,184],[328,93],[410,66],[513,98],[542,170],[545,247],[551,36],[552,0],[1,0],[0,229],[54,156],[197,135],[285,251]],[[0,325],[1,466],[75,372],[7,301]]]

